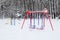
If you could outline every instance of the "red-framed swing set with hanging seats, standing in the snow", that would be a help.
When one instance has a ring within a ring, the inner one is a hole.
[[[32,28],[32,29],[39,29],[39,30],[42,30],[42,29],[44,29],[44,27],[45,27],[45,18],[46,18],[46,16],[48,17],[48,20],[49,20],[49,22],[50,22],[50,25],[51,25],[51,29],[52,30],[54,30],[53,29],[53,25],[52,25],[52,22],[51,22],[51,20],[50,20],[50,15],[48,14],[49,12],[48,12],[48,10],[46,9],[46,8],[44,8],[42,11],[26,11],[26,15],[24,16],[24,20],[23,20],[23,23],[22,23],[22,26],[21,26],[21,29],[23,29],[23,26],[24,26],[24,23],[25,23],[25,20],[27,19],[27,15],[30,15],[30,28]],[[35,18],[34,18],[34,25],[33,25],[33,27],[32,27],[32,14],[38,14],[38,25],[39,25],[39,14],[42,14],[43,16],[42,16],[42,22],[43,22],[43,25],[41,26],[41,28],[35,28]]]

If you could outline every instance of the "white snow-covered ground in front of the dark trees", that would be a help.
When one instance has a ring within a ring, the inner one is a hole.
[[[35,21],[38,27],[37,19]],[[52,31],[48,19],[45,20],[44,30],[30,29],[29,19],[25,21],[23,29],[21,29],[23,19],[16,19],[15,25],[14,20],[11,25],[11,19],[0,19],[0,40],[60,40],[60,20],[51,19],[51,21],[54,31]]]

